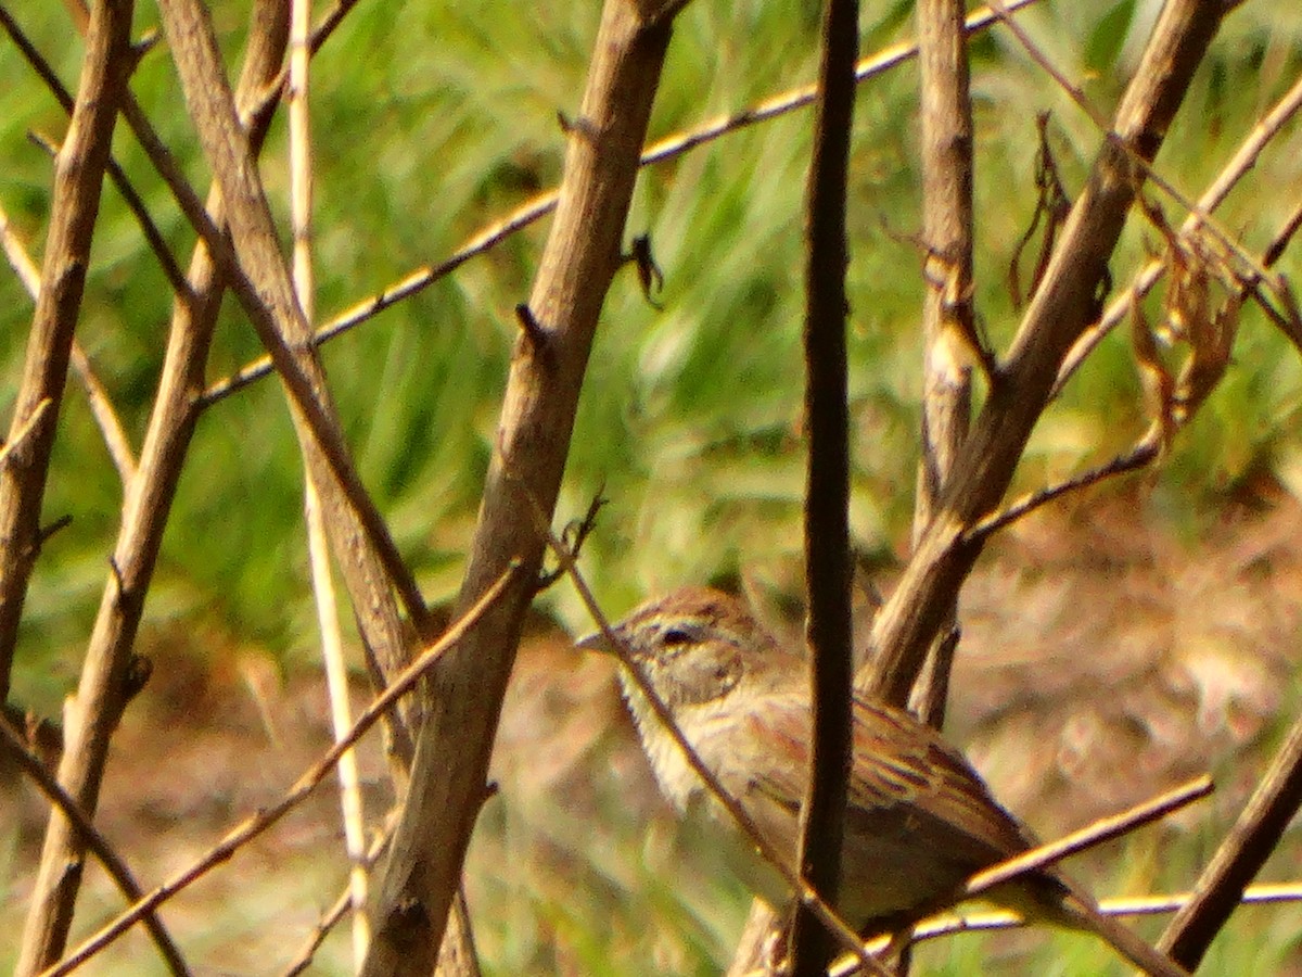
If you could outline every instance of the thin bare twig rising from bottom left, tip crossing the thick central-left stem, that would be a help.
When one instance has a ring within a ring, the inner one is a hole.
[[[426,677],[439,659],[453,647],[466,633],[483,617],[506,591],[513,577],[519,577],[519,565],[512,564],[497,577],[479,597],[478,601],[461,615],[430,647],[421,653],[417,659],[408,666],[393,683],[376,696],[370,706],[357,718],[348,736],[337,740],[322,757],[312,763],[299,776],[293,787],[271,808],[256,812],[240,825],[227,832],[216,845],[206,855],[193,862],[189,868],[176,873],[163,885],[158,886],[148,895],[135,903],[130,909],[112,920],[103,929],[95,933],[78,946],[72,954],[60,960],[42,973],[42,977],[60,977],[81,967],[86,960],[113,943],[132,926],[143,918],[145,913],[154,911],[177,892],[187,888],[206,875],[214,866],[230,860],[243,845],[249,844],[258,835],[267,831],[285,814],[297,808],[312,791],[329,776],[339,763],[339,758],[366,735],[366,732],[380,720],[380,718],[397,705],[402,696],[406,696],[417,684]]]

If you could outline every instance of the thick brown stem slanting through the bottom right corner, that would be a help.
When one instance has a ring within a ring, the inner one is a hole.
[[[1159,948],[1193,970],[1242,901],[1243,890],[1276,849],[1302,808],[1302,720],[1271,762],[1229,835],[1194,886],[1189,904],[1170,921]]]

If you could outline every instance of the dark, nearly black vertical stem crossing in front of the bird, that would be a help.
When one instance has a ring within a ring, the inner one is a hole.
[[[828,0],[823,14],[819,99],[810,162],[805,266],[805,572],[810,649],[809,782],[801,805],[797,865],[828,903],[841,888],[841,840],[854,750],[850,679],[850,409],[845,327],[846,188],[854,129],[858,0]],[[792,927],[792,972],[820,977],[837,942],[802,904]]]

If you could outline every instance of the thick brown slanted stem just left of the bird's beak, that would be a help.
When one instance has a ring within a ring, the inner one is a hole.
[[[521,332],[458,606],[518,559],[523,577],[427,684],[426,719],[393,853],[372,903],[367,977],[427,974],[435,963],[523,624],[543,556],[531,512],[551,517],[598,314],[620,262],[639,150],[669,25],[633,0],[607,0],[582,125],[527,307],[543,344]]]

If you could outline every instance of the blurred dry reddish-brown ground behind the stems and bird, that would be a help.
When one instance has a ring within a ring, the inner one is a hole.
[[[1269,745],[1297,715],[1302,630],[1302,507],[1282,494],[1232,503],[1184,539],[1151,509],[1138,495],[1095,499],[1025,521],[991,547],[965,591],[949,727],[1005,804],[1044,835],[1197,772],[1216,774],[1212,801],[1150,828],[1164,832],[1143,848],[1150,858],[1181,839],[1206,847],[1215,838],[1206,826],[1242,804]],[[99,818],[146,885],[275,800],[328,737],[315,676],[286,679],[266,655],[215,630],[156,636],[152,645],[154,677],[115,743]],[[357,698],[365,698],[361,687]],[[383,810],[374,743],[363,765],[370,810]],[[0,774],[9,812],[0,819],[0,868],[12,879],[0,931],[17,933],[43,805],[12,770]],[[577,655],[546,623],[521,653],[495,776],[500,797],[482,822],[493,840],[477,842],[471,856],[470,895],[480,912],[536,879],[555,886],[557,899],[618,900],[626,878],[579,865],[600,862],[602,845],[617,838],[585,827],[609,817],[611,797],[617,817],[646,828],[635,857],[681,855],[677,843],[656,840],[673,830],[673,817],[633,743],[611,664]],[[342,869],[329,787],[169,905],[165,918],[201,970],[279,972],[333,901]],[[1180,885],[1180,871],[1172,874]],[[1275,874],[1302,873],[1285,865]],[[586,894],[592,885],[609,891]],[[118,905],[94,873],[83,912],[107,917]],[[1295,912],[1293,931],[1302,929]],[[538,918],[527,925],[536,929]],[[506,939],[482,942],[491,955],[508,952]],[[575,938],[542,931],[533,939]],[[346,939],[335,939],[329,959],[346,952]],[[5,957],[0,952],[0,963]],[[147,959],[137,934],[87,972],[130,972],[124,968]],[[538,969],[583,972],[577,951],[530,959]]]

